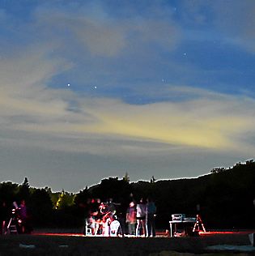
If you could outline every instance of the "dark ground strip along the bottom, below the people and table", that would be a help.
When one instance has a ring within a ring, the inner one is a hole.
[[[248,233],[221,233],[199,237],[82,237],[65,235],[0,236],[3,255],[255,255],[253,251],[211,250],[211,245],[247,245]],[[238,247],[236,246],[236,247]],[[255,248],[255,247],[254,247]],[[251,247],[253,249],[253,247]]]

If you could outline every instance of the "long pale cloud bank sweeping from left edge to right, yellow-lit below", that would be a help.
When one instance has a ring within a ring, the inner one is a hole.
[[[253,132],[252,99],[169,85],[168,95],[184,96],[184,100],[130,105],[116,99],[79,96],[67,87],[47,87],[50,76],[60,66],[65,69],[65,64],[45,58],[44,51],[33,50],[0,63],[0,113],[8,129],[56,140],[72,136],[113,142],[130,139],[213,150],[236,150],[242,144],[238,138]],[[72,102],[78,111],[70,109]]]

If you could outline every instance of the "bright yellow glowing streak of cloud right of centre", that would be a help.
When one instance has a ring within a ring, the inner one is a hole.
[[[245,117],[227,117],[227,113],[215,113],[214,117],[204,113],[198,117],[198,110],[192,109],[190,105],[186,113],[180,104],[171,103],[134,106],[112,102],[99,109],[91,109],[91,115],[99,122],[84,127],[84,130],[162,143],[223,149],[233,147],[231,137],[251,125]]]

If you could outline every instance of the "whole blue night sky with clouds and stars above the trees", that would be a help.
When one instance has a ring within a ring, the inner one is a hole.
[[[253,159],[255,1],[1,0],[0,181],[76,192]]]

